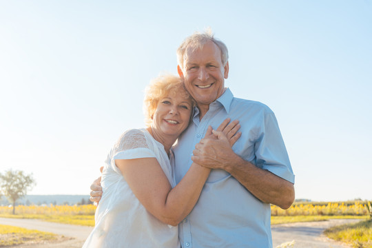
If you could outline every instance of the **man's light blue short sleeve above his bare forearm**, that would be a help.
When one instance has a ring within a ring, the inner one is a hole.
[[[265,110],[255,143],[256,165],[294,183],[291,163],[273,112]]]

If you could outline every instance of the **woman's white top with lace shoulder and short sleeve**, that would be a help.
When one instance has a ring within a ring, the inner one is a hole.
[[[174,176],[161,143],[145,129],[125,132],[105,161],[101,186],[103,196],[96,209],[96,226],[83,247],[180,247],[178,227],[162,223],[152,216],[134,196],[115,159],[156,158],[169,183]]]

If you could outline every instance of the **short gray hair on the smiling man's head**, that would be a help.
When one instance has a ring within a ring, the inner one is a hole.
[[[186,52],[187,50],[191,49],[192,52],[197,50],[198,48],[203,48],[205,43],[207,42],[215,43],[221,51],[221,61],[223,66],[226,65],[227,61],[229,60],[229,51],[227,50],[227,46],[222,41],[214,38],[214,34],[211,32],[210,28],[207,28],[205,32],[194,32],[194,34],[187,37],[183,43],[177,49],[177,62],[180,68],[183,70],[183,62],[186,59]]]

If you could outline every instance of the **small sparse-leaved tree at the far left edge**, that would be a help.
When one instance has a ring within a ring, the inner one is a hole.
[[[35,185],[32,174],[26,175],[22,171],[13,171],[9,169],[4,174],[0,174],[0,189],[6,198],[13,205],[13,214],[15,214],[16,201],[27,194],[28,189]]]

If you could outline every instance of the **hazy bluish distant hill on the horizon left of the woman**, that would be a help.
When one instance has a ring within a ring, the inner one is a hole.
[[[87,195],[30,195],[17,200],[17,205],[75,205],[90,203]],[[0,205],[10,205],[5,196],[0,198]]]

